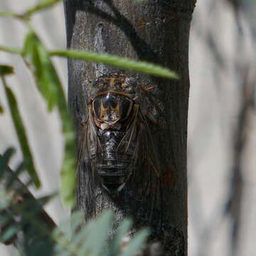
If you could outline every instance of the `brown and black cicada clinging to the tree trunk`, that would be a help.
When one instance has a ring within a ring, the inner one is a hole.
[[[160,168],[139,90],[153,87],[144,89],[125,74],[102,75],[91,87],[79,154],[89,186],[100,185],[108,193],[119,193],[128,183],[151,186],[144,177],[159,177]]]

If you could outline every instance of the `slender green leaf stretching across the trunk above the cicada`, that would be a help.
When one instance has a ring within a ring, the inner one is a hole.
[[[168,68],[163,68],[159,65],[154,65],[144,61],[135,61],[128,58],[121,58],[107,53],[100,54],[78,50],[54,50],[51,51],[50,54],[58,55],[61,57],[76,58],[89,62],[104,63],[107,65],[113,65],[117,68],[125,68],[128,70],[134,70],[137,72],[161,76],[164,78],[178,79],[178,75],[174,71],[169,70]]]

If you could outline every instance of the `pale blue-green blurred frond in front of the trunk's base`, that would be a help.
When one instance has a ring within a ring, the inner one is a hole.
[[[85,223],[80,213],[73,213],[70,218],[73,223],[72,228],[67,233],[63,233],[60,228],[55,228],[53,238],[56,241],[56,255],[65,256],[132,256],[139,252],[143,242],[149,235],[149,230],[139,231],[137,235],[120,252],[122,238],[132,226],[132,221],[124,219],[117,228],[117,234],[110,240],[110,230],[112,228],[113,214],[107,210],[96,220],[89,220]],[[67,225],[65,221],[60,226]],[[66,228],[65,228],[66,230]],[[71,237],[72,239],[69,239]]]

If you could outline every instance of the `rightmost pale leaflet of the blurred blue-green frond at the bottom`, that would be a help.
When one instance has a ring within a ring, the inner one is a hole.
[[[124,248],[124,252],[120,256],[137,255],[146,238],[149,236],[149,229],[140,230],[132,239],[131,242]]]

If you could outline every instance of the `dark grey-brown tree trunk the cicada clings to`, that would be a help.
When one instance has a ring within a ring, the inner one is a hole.
[[[144,168],[117,195],[106,193],[101,186],[90,193],[92,172],[84,164],[78,171],[77,208],[85,212],[86,218],[103,208],[114,210],[116,222],[132,216],[135,229],[151,227],[151,239],[162,242],[164,255],[187,255],[188,37],[195,2],[65,1],[68,47],[147,60],[171,68],[180,76],[179,80],[168,80],[68,60],[68,99],[78,138],[82,133],[80,122],[87,119],[87,104],[92,98],[91,80],[113,73],[125,74],[143,87],[154,86],[154,90],[141,93],[139,107],[156,121],[148,124],[160,174],[153,171],[142,175],[148,172]],[[144,196],[138,196],[144,184],[149,184],[148,190]]]

